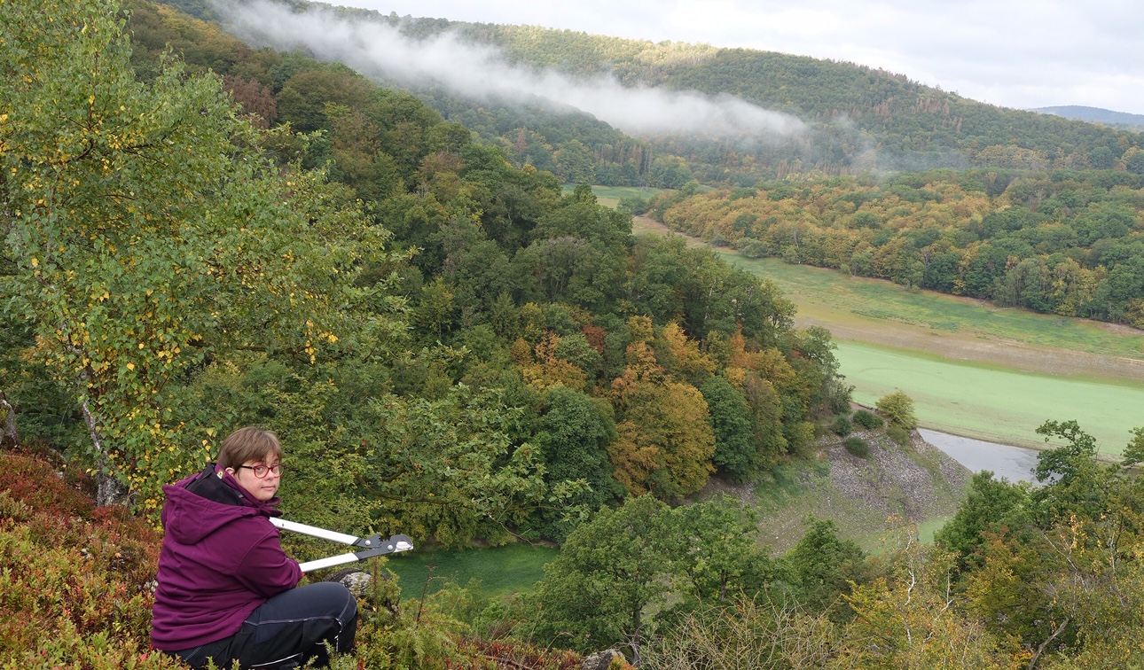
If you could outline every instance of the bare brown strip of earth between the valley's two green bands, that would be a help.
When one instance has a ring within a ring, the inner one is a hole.
[[[706,246],[706,242],[677,232],[662,223],[645,216],[636,217],[635,232],[653,234],[677,234],[689,247]],[[970,300],[970,298],[961,298]],[[821,326],[834,334],[834,338],[845,342],[861,342],[895,349],[911,349],[942,356],[951,360],[999,365],[1022,372],[1093,376],[1109,380],[1141,382],[1144,380],[1144,360],[1088,353],[1072,349],[1040,346],[1026,342],[1003,338],[982,338],[972,334],[940,332],[889,320],[867,320],[847,314],[839,318],[820,305],[799,304],[795,325],[800,327]],[[1112,330],[1131,328],[1102,324]]]

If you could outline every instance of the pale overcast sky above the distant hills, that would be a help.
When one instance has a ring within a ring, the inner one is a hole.
[[[1144,114],[1141,0],[335,0],[400,16],[570,29],[849,61],[964,97]]]

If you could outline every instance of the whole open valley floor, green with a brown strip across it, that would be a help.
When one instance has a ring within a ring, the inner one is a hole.
[[[643,218],[635,229],[666,231]],[[1141,330],[721,253],[774,281],[800,325],[834,334],[864,405],[901,390],[925,428],[1032,447],[1044,444],[1033,432],[1044,421],[1075,420],[1114,454],[1144,425]]]

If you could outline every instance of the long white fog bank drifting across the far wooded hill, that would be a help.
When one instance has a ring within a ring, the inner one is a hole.
[[[801,133],[803,123],[733,96],[697,91],[627,88],[612,77],[571,79],[506,63],[501,53],[464,43],[446,33],[427,40],[403,35],[384,23],[347,21],[325,8],[292,11],[273,2],[237,7],[217,2],[231,29],[252,43],[304,48],[412,86],[436,85],[474,99],[508,99],[553,109],[571,106],[631,135],[706,134],[720,137],[779,138]]]

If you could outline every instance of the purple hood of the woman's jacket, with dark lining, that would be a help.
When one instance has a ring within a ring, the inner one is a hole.
[[[280,498],[259,501],[243,489],[230,473],[208,464],[201,472],[162,487],[167,504],[162,525],[183,544],[197,544],[222,526],[243,517],[277,517]]]

